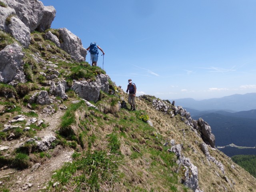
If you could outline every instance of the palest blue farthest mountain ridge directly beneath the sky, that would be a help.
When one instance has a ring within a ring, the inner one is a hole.
[[[248,111],[256,109],[256,93],[234,94],[222,98],[194,100],[192,98],[170,99],[176,106],[194,110],[227,110],[229,112]],[[190,112],[190,111],[189,111]]]

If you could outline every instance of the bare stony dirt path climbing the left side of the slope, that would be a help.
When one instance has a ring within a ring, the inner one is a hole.
[[[42,138],[46,135],[55,135],[55,131],[58,130],[61,122],[61,117],[64,114],[64,110],[57,110],[52,115],[46,115],[38,113],[38,120],[44,120],[44,123],[49,124],[48,127],[37,132],[37,136]],[[10,142],[3,141],[2,146],[10,147],[10,151],[13,150],[12,146],[19,145],[22,140],[12,140]],[[14,168],[2,168],[0,170],[0,181],[5,184],[6,188],[10,191],[26,191],[34,192],[40,189],[46,188],[48,182],[51,180],[51,176],[54,170],[60,168],[64,162],[71,162],[71,155],[74,151],[70,148],[63,148],[58,145],[53,150],[50,150],[49,157],[40,158],[39,163],[32,164],[29,168],[24,170],[17,170]],[[30,155],[30,160],[33,158],[33,154]],[[39,165],[38,168],[33,166]]]

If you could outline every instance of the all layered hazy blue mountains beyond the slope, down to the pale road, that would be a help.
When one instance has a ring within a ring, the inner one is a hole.
[[[256,145],[256,93],[234,94],[201,101],[192,98],[174,101],[176,106],[182,106],[190,112],[194,120],[202,118],[210,124],[216,138],[216,146],[231,143],[246,147]],[[256,151],[248,149],[248,152],[249,150],[253,153]],[[246,150],[237,151],[240,153]],[[234,153],[235,149],[232,148],[232,154]]]

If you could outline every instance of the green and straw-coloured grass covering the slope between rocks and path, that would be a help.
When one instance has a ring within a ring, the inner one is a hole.
[[[2,97],[2,106],[6,105],[4,104],[6,100],[9,106],[12,104],[19,106],[22,102],[26,104],[29,95],[40,86],[43,86],[41,89],[48,90],[48,87],[44,86],[45,79],[38,73],[44,71],[41,64],[37,64],[29,56],[32,52],[40,52],[44,59],[57,62],[60,77],[66,78],[70,83],[72,83],[70,78],[74,78],[75,74],[80,74],[81,77],[78,79],[81,79],[84,75],[94,78],[95,72],[102,73],[99,68],[91,68],[87,64],[70,70],[78,64],[72,62],[68,54],[59,50],[51,42],[44,41],[42,33],[34,33],[32,37],[33,43],[30,49],[25,50],[27,54],[25,63],[27,64],[26,74],[33,84],[27,87],[34,88],[28,90],[25,96],[20,96],[18,102]],[[38,42],[42,44],[41,47]],[[50,49],[46,48],[47,44],[51,45]],[[56,61],[51,58],[52,55],[67,60]],[[127,95],[119,88],[118,91],[118,95],[127,102]],[[71,96],[72,92],[69,94]],[[221,192],[226,188],[228,191],[236,192],[255,191],[255,178],[236,164],[236,168],[232,169],[231,165],[234,163],[230,158],[218,150],[209,149],[210,154],[224,164],[225,174],[232,182],[233,187],[231,187],[218,167],[208,162],[200,150],[199,144],[202,139],[180,120],[179,115],[170,118],[154,110],[148,102],[138,98],[136,99],[138,111],[130,112],[127,109],[119,111],[117,103],[119,96],[101,93],[101,100],[95,104],[100,110],[88,108],[84,102],[70,104],[70,99],[64,101],[68,111],[60,125],[60,132],[57,135],[58,144],[75,148],[76,153],[73,155],[73,163],[66,164],[53,175],[53,180],[46,191],[74,189],[74,191],[189,192],[190,189],[180,184],[182,171],[180,170],[178,174],[175,172],[176,157],[166,151],[170,146],[163,146],[166,140],[172,138],[176,144],[183,144],[185,157],[190,158],[191,162],[198,167],[201,190]],[[36,105],[32,107],[41,108]],[[149,116],[154,128],[140,120],[141,114]],[[1,122],[4,124],[4,121],[11,116],[10,113],[2,114]],[[6,136],[1,137],[4,139]],[[52,183],[57,181],[58,187],[52,188]]]

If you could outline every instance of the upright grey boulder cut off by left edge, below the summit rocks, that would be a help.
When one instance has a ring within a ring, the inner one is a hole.
[[[23,57],[22,47],[17,43],[8,45],[0,51],[0,82],[26,82],[23,72]]]

